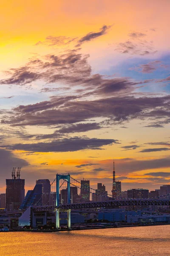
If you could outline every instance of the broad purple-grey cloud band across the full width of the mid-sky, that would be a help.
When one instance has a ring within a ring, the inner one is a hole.
[[[96,100],[79,100],[77,96],[53,97],[50,101],[14,108],[14,115],[1,120],[14,126],[74,124],[91,118],[110,119],[110,125],[130,119],[170,117],[170,96],[118,96]],[[154,110],[153,110],[154,109]]]

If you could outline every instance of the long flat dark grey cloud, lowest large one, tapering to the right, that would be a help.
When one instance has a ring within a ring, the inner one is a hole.
[[[12,150],[24,150],[33,152],[68,152],[88,149],[102,149],[103,146],[112,145],[113,143],[117,144],[119,142],[118,140],[113,139],[90,139],[87,137],[73,137],[54,140],[52,142],[46,143],[19,143],[14,145],[3,145],[2,147]]]

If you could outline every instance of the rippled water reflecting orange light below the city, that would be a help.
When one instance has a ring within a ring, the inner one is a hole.
[[[170,256],[170,225],[0,233],[0,256]]]

